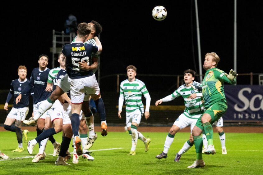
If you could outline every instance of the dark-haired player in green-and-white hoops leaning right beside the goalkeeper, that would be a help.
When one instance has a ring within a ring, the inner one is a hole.
[[[182,96],[184,99],[184,105],[185,110],[184,112],[176,119],[176,121],[173,123],[172,128],[168,132],[166,136],[166,140],[164,143],[164,150],[161,154],[157,155],[156,158],[162,159],[167,157],[168,150],[173,143],[174,136],[177,132],[179,132],[181,129],[187,127],[190,125],[191,131],[194,128],[197,119],[201,117],[201,114],[203,113],[205,106],[202,93],[199,93],[197,90],[195,90],[193,87],[191,87],[191,84],[194,84],[195,86],[200,86],[200,83],[197,83],[194,81],[195,79],[195,71],[188,69],[184,71],[184,83],[182,86],[180,86],[176,91],[174,91],[171,95],[166,96],[160,100],[157,100],[155,102],[155,105],[158,106],[162,102],[172,101],[176,97]],[[193,98],[192,94],[196,94],[197,97]],[[190,138],[185,142],[182,149],[176,154],[176,157],[174,159],[175,162],[178,162],[181,158],[181,155],[185,153],[187,150],[189,150],[194,145],[193,136],[190,133]]]

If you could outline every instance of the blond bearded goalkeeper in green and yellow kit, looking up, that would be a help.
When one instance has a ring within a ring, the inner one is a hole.
[[[196,161],[188,168],[198,168],[205,166],[202,159],[203,140],[201,133],[205,131],[208,141],[206,154],[215,154],[213,145],[213,128],[210,123],[218,120],[227,110],[227,101],[224,94],[224,82],[235,84],[238,74],[234,70],[230,70],[229,74],[216,68],[220,58],[215,52],[205,55],[203,68],[206,70],[205,77],[202,82],[202,93],[205,103],[205,112],[200,119],[197,120],[192,130],[194,144],[196,148]]]

